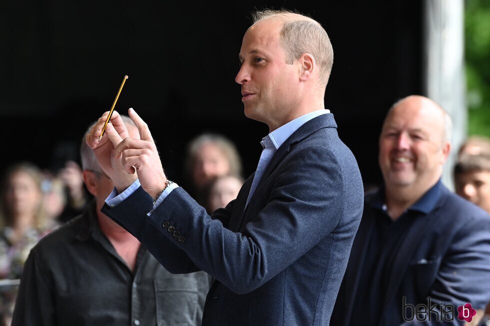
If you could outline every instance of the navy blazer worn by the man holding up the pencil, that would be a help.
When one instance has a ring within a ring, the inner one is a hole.
[[[328,325],[363,208],[359,169],[333,115],[278,148],[245,209],[252,180],[211,217],[182,188],[150,217],[141,188],[102,211],[168,271],[216,279],[203,325]]]

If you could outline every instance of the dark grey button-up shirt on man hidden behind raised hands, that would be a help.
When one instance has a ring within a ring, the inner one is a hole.
[[[92,204],[30,252],[12,325],[200,325],[209,286],[204,272],[170,274],[142,246],[131,271]]]

